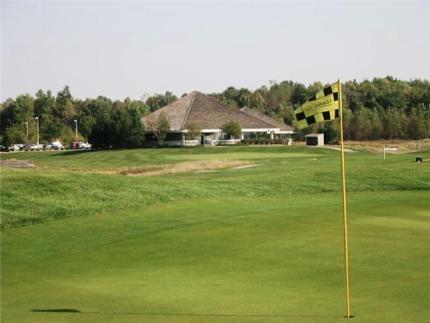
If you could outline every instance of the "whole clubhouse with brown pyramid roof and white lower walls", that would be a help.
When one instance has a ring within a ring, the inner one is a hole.
[[[158,142],[154,127],[161,114],[169,120],[170,132],[164,139],[164,144],[170,146],[235,144],[241,140],[261,137],[291,141],[293,134],[293,128],[282,120],[247,107],[237,109],[194,91],[143,118],[145,139],[149,145],[156,145]],[[222,128],[231,121],[240,126],[240,138],[228,138],[223,133]],[[193,139],[187,136],[191,127],[200,131]]]

